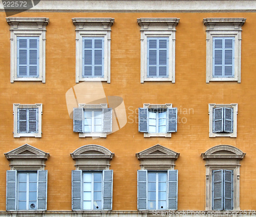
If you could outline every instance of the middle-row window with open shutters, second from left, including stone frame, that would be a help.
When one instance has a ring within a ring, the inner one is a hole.
[[[112,131],[112,108],[107,104],[79,104],[73,111],[74,132],[79,137],[106,137]]]

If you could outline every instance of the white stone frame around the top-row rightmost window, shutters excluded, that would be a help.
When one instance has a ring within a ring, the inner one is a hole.
[[[241,83],[241,33],[245,18],[204,18],[206,26],[206,83],[210,81],[237,81]],[[234,77],[214,78],[212,69],[213,38],[234,37]]]

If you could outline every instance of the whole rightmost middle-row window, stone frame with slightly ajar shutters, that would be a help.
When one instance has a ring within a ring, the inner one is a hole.
[[[209,137],[237,137],[238,104],[209,104]]]

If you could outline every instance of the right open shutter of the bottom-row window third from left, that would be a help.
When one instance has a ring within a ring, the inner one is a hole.
[[[178,170],[168,170],[168,209],[178,208]]]

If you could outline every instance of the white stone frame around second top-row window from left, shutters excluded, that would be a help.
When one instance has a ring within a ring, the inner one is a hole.
[[[76,26],[76,83],[79,81],[106,81],[110,83],[111,26],[114,18],[72,18]],[[104,68],[102,78],[83,78],[82,75],[82,38],[104,38]]]

